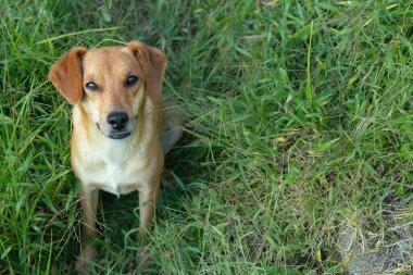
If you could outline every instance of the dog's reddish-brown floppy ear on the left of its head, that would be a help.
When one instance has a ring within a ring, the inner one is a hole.
[[[71,104],[77,104],[82,100],[82,55],[86,51],[85,48],[72,49],[49,72],[49,79]]]

